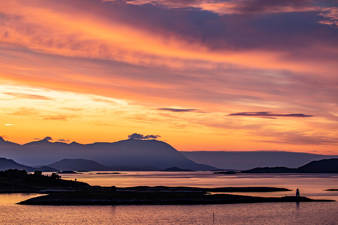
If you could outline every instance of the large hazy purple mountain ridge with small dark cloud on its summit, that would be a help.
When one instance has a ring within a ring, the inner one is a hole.
[[[36,157],[39,155],[39,157]],[[216,167],[197,164],[168,143],[158,140],[127,139],[91,144],[49,142],[46,139],[23,145],[3,145],[1,156],[15,158],[26,165],[49,165],[62,159],[93,160],[103,166],[152,166],[159,169],[178,167],[210,171]],[[85,170],[85,169],[84,169]]]

